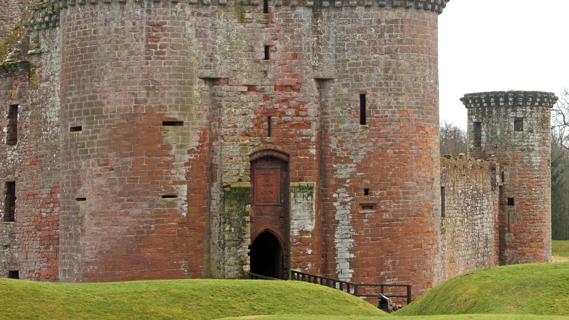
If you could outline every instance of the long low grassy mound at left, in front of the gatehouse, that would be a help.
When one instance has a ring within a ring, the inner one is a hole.
[[[340,290],[300,281],[191,279],[59,284],[2,278],[0,297],[0,319],[387,315]]]

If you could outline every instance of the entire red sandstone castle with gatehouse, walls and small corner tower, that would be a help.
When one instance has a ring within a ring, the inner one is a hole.
[[[413,285],[551,260],[547,92],[440,157],[445,0],[6,0],[0,277]]]

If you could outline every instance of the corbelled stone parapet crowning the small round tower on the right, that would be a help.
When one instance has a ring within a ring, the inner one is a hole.
[[[542,91],[493,91],[467,93],[460,98],[466,108],[481,106],[547,106],[551,108],[559,98],[552,92]]]

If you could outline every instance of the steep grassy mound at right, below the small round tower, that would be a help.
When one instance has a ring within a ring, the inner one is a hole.
[[[569,315],[569,262],[522,264],[461,274],[395,315]]]

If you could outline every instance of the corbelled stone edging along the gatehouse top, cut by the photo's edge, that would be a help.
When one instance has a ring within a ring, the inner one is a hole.
[[[44,0],[36,2],[32,5],[32,14],[30,18],[23,20],[23,26],[28,31],[44,30],[59,26],[59,14],[61,10],[73,6],[97,5],[98,3],[159,3],[170,4],[172,6],[180,3],[187,3],[189,6],[231,6],[239,2],[242,6],[259,6],[262,2],[259,0]],[[385,9],[412,9],[434,11],[438,14],[443,13],[443,9],[450,0],[272,0],[270,6],[273,7],[316,7],[316,8],[333,8],[333,7],[382,7]]]

